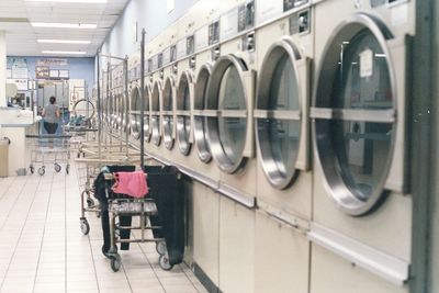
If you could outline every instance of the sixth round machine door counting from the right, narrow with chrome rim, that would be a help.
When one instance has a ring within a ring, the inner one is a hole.
[[[167,149],[172,149],[173,147],[173,88],[175,82],[171,77],[166,80],[164,90],[164,109],[162,123],[164,123],[164,143]]]

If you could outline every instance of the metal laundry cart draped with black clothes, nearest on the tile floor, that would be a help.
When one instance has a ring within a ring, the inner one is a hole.
[[[184,201],[180,187],[181,174],[175,167],[148,166],[145,167],[145,177],[149,192],[145,198],[134,199],[126,194],[114,193],[111,188],[114,176],[103,174],[106,201],[101,199],[104,234],[102,252],[110,258],[111,268],[115,272],[122,266],[117,244],[121,249],[127,250],[131,243],[156,243],[159,266],[164,270],[171,270],[183,259]],[[105,207],[108,221],[104,218]],[[138,225],[131,224],[135,216],[139,219]],[[106,223],[109,233],[105,236]],[[138,230],[139,236],[130,238],[131,230]]]

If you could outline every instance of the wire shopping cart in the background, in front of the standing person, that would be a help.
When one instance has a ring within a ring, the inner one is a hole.
[[[41,134],[26,135],[27,145],[31,148],[31,173],[40,165],[38,174],[46,172],[46,164],[53,164],[56,172],[61,171],[65,165],[66,173],[70,170],[70,138],[71,135]]]

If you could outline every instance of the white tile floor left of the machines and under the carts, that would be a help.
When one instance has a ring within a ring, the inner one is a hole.
[[[90,234],[80,232],[75,166],[70,174],[50,169],[0,179],[0,292],[207,292],[185,264],[161,270],[154,244],[120,251],[113,272],[100,219],[89,214]]]

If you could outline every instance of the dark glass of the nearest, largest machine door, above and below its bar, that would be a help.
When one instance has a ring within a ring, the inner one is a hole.
[[[340,44],[340,48],[334,106],[393,108],[387,56],[371,32],[359,32],[350,42]],[[393,124],[333,121],[331,131],[340,176],[359,200],[367,201],[385,176]]]

